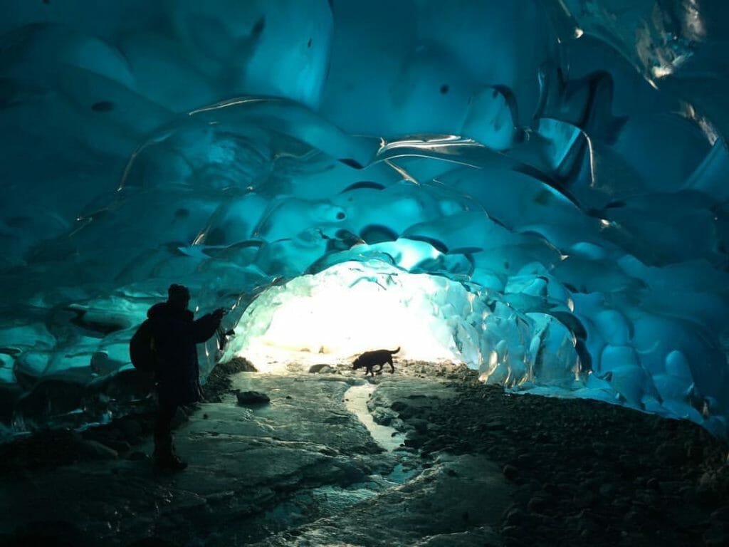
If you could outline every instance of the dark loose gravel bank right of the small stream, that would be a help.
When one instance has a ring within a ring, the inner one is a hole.
[[[515,486],[507,546],[727,546],[727,446],[690,422],[592,400],[510,395],[469,372],[454,400],[399,408],[422,457],[484,454]]]

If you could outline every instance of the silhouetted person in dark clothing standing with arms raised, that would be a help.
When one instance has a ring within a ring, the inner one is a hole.
[[[172,419],[179,406],[197,403],[203,398],[196,344],[202,344],[215,334],[225,310],[219,308],[195,319],[188,309],[190,290],[187,287],[171,284],[167,294],[166,302],[156,303],[147,311],[157,354],[155,381],[159,408],[154,458],[160,468],[182,470],[187,468],[187,463],[175,454]]]

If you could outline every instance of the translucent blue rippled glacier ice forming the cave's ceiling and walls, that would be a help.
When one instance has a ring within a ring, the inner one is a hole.
[[[182,282],[233,309],[205,373],[402,344],[727,436],[722,0],[0,4],[4,435],[133,405]],[[421,344],[293,332],[385,293]]]

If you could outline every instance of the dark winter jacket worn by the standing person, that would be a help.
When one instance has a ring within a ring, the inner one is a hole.
[[[198,349],[215,334],[220,320],[212,314],[194,319],[190,310],[160,302],[147,311],[157,351],[157,393],[160,400],[187,405],[202,399]]]

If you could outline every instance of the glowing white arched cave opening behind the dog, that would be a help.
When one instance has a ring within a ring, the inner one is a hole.
[[[236,353],[262,372],[300,363],[337,364],[371,349],[397,360],[461,361],[451,328],[435,303],[453,283],[408,274],[384,263],[342,263],[271,287],[236,327]],[[389,370],[389,367],[387,368]]]

